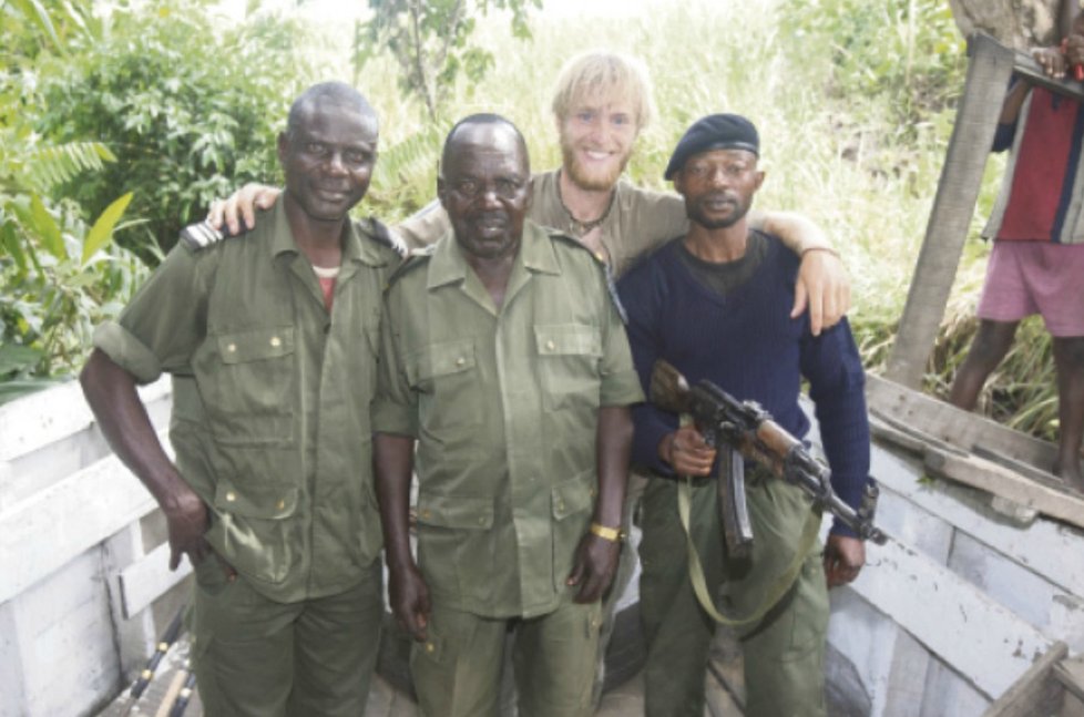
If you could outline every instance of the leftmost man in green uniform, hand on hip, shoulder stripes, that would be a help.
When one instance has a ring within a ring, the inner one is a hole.
[[[278,137],[284,201],[247,240],[178,245],[81,377],[106,439],[195,566],[208,715],[356,717],[382,614],[369,403],[380,294],[398,255],[348,211],[378,122],[340,83],[301,94]],[[135,387],[173,376],[171,441]]]

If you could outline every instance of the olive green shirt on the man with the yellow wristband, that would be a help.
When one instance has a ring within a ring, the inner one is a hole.
[[[597,488],[597,412],[643,400],[601,264],[526,222],[497,308],[451,233],[385,297],[374,429],[418,439],[418,563],[446,607],[552,612]]]

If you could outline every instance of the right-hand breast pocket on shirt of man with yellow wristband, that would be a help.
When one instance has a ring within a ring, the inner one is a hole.
[[[534,342],[545,408],[597,408],[602,331],[583,324],[535,326]]]

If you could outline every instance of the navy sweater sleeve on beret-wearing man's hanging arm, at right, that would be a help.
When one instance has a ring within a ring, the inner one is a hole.
[[[869,478],[869,417],[866,373],[846,318],[818,337],[807,332],[801,345],[801,372],[816,406],[832,489],[857,510]],[[838,520],[832,532],[855,536]]]

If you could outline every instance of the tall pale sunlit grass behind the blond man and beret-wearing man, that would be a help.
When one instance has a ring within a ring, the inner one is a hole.
[[[533,41],[510,38],[507,20],[480,22],[497,66],[479,85],[457,88],[441,126],[402,96],[390,62],[357,79],[382,116],[381,161],[367,212],[389,219],[434,194],[440,142],[451,122],[495,111],[523,131],[536,170],[560,163],[548,103],[565,59],[590,48],[635,54],[655,84],[657,121],[637,141],[633,181],[665,188],[662,170],[695,119],[719,111],[749,116],[761,133],[768,177],[761,208],[801,212],[839,247],[853,281],[850,320],[869,370],[894,339],[937,191],[954,101],[963,88],[963,40],[945,0],[664,0],[601,18],[536,13]],[[341,74],[342,64],[333,66]],[[1004,162],[988,167],[976,207],[978,236]],[[970,240],[953,287],[927,385],[944,392],[973,336],[989,247]],[[1025,322],[1013,354],[992,378],[988,410],[1051,437],[1054,411],[1049,340]]]

